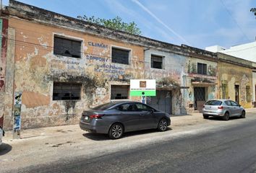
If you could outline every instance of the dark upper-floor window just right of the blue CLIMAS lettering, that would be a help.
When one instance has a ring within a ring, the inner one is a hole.
[[[112,48],[112,63],[129,64],[129,50]]]

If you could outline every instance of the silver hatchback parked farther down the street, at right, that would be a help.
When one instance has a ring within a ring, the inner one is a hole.
[[[244,107],[229,99],[213,99],[205,102],[202,108],[202,115],[206,119],[209,116],[222,117],[229,120],[229,117],[245,117]]]

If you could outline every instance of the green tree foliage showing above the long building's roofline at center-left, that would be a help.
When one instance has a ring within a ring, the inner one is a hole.
[[[122,22],[121,17],[115,17],[114,19],[101,19],[95,16],[87,17],[86,15],[84,15],[78,16],[77,18],[82,19],[85,22],[103,25],[114,30],[121,30],[124,32],[129,32],[130,34],[141,35],[140,28],[137,27],[137,24],[135,24],[135,22]]]

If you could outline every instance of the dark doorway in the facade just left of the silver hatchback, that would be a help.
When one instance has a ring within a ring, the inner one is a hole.
[[[194,87],[195,110],[202,111],[205,103],[205,87]]]

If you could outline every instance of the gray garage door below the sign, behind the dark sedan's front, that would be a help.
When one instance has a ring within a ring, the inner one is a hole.
[[[156,90],[156,96],[148,98],[147,104],[171,114],[171,91]]]

